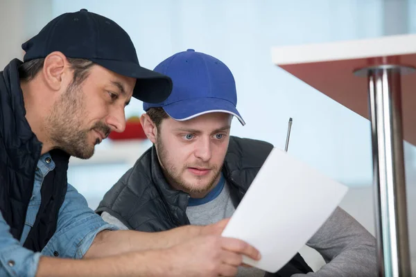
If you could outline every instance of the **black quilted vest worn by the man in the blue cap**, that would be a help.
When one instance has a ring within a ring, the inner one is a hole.
[[[272,148],[263,141],[230,138],[223,174],[234,206],[241,202]],[[96,212],[110,213],[129,229],[155,232],[189,224],[187,206],[187,193],[173,190],[167,184],[153,147],[105,194]],[[312,269],[297,253],[276,274],[266,276],[286,277],[310,271]]]

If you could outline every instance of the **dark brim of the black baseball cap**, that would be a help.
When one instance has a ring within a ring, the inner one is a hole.
[[[117,60],[89,59],[110,71],[123,76],[136,78],[136,86],[133,97],[149,103],[164,101],[171,95],[172,80],[166,75],[145,69],[133,62],[122,62]]]

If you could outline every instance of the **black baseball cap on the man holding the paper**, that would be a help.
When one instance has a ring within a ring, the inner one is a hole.
[[[24,62],[60,51],[137,78],[133,96],[145,102],[162,102],[172,91],[171,78],[140,66],[135,46],[123,28],[86,9],[56,17],[21,48],[26,51]]]

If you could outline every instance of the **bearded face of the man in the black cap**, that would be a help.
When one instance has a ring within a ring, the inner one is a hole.
[[[79,85],[69,84],[55,101],[44,128],[54,145],[71,156],[89,159],[112,131],[125,129],[125,105],[135,87],[128,78],[94,65]]]

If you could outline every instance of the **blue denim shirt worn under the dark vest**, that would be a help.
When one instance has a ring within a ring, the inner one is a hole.
[[[26,212],[26,221],[20,241],[13,238],[10,227],[0,213],[0,276],[35,276],[40,256],[60,258],[83,258],[91,246],[97,233],[117,230],[114,225],[107,224],[99,215],[88,207],[87,201],[78,191],[68,184],[58,214],[58,224],[51,240],[40,253],[24,248],[29,231],[35,223],[40,208],[40,188],[44,177],[55,168],[51,155],[46,153],[37,162],[33,194]],[[1,185],[1,184],[0,184]]]

